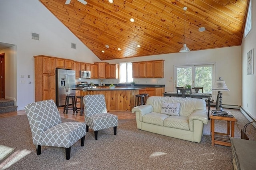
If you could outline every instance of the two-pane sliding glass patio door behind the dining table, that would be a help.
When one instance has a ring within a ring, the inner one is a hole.
[[[212,93],[214,82],[214,64],[174,66],[175,87],[190,84],[193,87],[203,87],[204,93]]]

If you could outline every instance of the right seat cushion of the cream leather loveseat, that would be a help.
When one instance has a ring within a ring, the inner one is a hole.
[[[169,116],[164,119],[164,127],[172,127],[176,129],[189,130],[187,116]]]

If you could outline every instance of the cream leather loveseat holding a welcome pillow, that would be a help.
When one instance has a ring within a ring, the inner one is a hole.
[[[165,105],[180,104],[180,108],[164,106],[163,102]],[[172,110],[174,115],[166,114],[166,108],[171,107],[178,111]],[[205,101],[195,98],[151,96],[146,105],[132,108],[132,113],[136,113],[138,129],[197,143],[204,134],[204,124],[208,123]]]

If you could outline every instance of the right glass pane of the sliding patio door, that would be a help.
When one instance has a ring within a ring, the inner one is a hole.
[[[195,68],[195,87],[203,87],[204,93],[212,92],[212,66]]]

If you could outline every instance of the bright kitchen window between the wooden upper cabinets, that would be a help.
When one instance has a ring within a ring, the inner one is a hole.
[[[119,83],[130,83],[133,81],[132,78],[132,63],[119,63],[120,67],[120,78]]]

